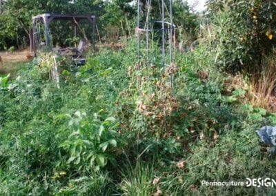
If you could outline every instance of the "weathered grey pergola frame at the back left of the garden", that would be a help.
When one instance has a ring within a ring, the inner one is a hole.
[[[1,1],[1,0],[0,0]],[[79,21],[87,20],[92,26],[92,33],[90,34],[91,46],[95,47],[95,27],[96,27],[96,17],[93,15],[81,15],[81,14],[40,14],[32,17],[32,49],[34,54],[36,54],[39,48],[43,47],[48,51],[52,51],[52,35],[50,31],[50,23],[52,21],[72,21],[72,25],[75,27],[75,37],[77,34],[77,28],[79,27]],[[41,37],[41,32],[43,38]],[[85,40],[88,41],[88,37],[84,36]],[[88,41],[90,42],[90,41]],[[63,48],[69,49],[70,48]]]

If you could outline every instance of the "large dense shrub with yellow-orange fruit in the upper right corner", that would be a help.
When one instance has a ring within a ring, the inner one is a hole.
[[[262,57],[275,46],[276,4],[273,1],[208,1],[217,26],[213,46],[217,66],[230,72],[259,71]]]

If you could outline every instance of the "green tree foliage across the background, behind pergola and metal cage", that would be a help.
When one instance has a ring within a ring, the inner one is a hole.
[[[141,1],[142,11],[145,11],[146,1]],[[153,15],[158,18],[159,3],[152,2]],[[197,28],[197,17],[191,13],[186,3],[174,1],[174,20],[178,28],[184,28],[188,33],[194,34]],[[32,17],[41,13],[81,13],[95,14],[97,26],[101,37],[112,29],[117,34],[128,34],[136,26],[137,5],[132,1],[92,1],[92,0],[7,0],[0,16],[0,48],[23,45],[32,35]],[[119,29],[119,30],[118,30]],[[26,43],[25,43],[26,45]]]

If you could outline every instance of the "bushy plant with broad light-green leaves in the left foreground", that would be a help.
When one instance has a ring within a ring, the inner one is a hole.
[[[70,118],[69,126],[73,132],[68,140],[60,147],[69,154],[67,164],[79,166],[79,169],[87,166],[90,168],[102,168],[108,161],[115,164],[115,157],[112,151],[117,147],[118,124],[115,118],[108,117],[104,121],[95,114],[92,123],[86,119],[86,113],[79,111]]]

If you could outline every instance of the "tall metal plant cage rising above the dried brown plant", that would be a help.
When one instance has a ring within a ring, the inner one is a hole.
[[[154,1],[154,0],[153,0]],[[175,30],[175,25],[172,22],[172,0],[169,0],[169,5],[166,5],[164,0],[157,0],[159,3],[160,19],[150,21],[150,10],[152,9],[152,0],[146,0],[146,12],[141,12],[141,0],[137,0],[137,49],[138,49],[138,60],[141,60],[141,34],[146,34],[146,64],[150,63],[150,34],[155,32],[161,32],[161,67],[162,71],[165,72],[166,66],[172,66],[173,55],[172,55],[172,37]],[[166,1],[168,2],[168,1]],[[144,14],[144,15],[143,15]],[[146,15],[146,16],[145,16]],[[141,22],[141,18],[146,17],[144,23]],[[152,24],[159,23],[161,28],[151,27]],[[167,46],[169,46],[167,51]],[[169,55],[169,65],[166,64],[166,56]]]

